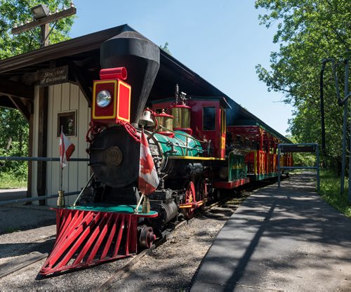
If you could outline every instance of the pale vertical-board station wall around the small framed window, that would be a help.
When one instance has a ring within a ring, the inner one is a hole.
[[[69,140],[75,145],[72,154],[74,158],[88,158],[86,148],[86,132],[91,117],[91,109],[79,87],[74,84],[58,84],[48,87],[48,138],[47,138],[47,157],[60,157],[58,132],[58,114],[61,112],[76,111],[76,135],[68,136]],[[33,125],[33,157],[38,157],[39,140],[39,87],[35,88],[34,95],[34,125]],[[32,170],[32,197],[37,197],[37,162],[33,162]],[[63,168],[63,186],[65,192],[80,191],[84,187],[90,170],[88,162],[70,161]],[[60,190],[60,162],[50,161],[46,164],[46,194],[57,194]],[[66,205],[74,203],[77,195],[65,198]],[[35,201],[34,204],[39,204]],[[57,199],[47,199],[46,205],[56,206]]]

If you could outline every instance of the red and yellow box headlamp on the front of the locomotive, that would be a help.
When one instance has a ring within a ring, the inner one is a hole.
[[[100,79],[93,81],[92,121],[118,124],[131,119],[131,86],[126,84],[124,67],[101,69]]]

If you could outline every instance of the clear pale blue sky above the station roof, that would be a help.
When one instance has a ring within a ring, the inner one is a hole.
[[[275,29],[259,25],[252,0],[76,0],[77,37],[128,24],[157,45],[168,42],[174,58],[286,135],[291,105],[268,92],[255,66],[270,66]],[[180,88],[181,90],[181,88]],[[191,93],[189,93],[191,94]],[[161,97],[160,97],[161,98]]]

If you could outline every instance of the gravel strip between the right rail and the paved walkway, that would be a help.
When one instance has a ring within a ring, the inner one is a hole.
[[[187,291],[225,220],[199,216],[145,255],[110,291]]]

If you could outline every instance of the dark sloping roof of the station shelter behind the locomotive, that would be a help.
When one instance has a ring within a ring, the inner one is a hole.
[[[91,90],[92,81],[99,79],[100,45],[107,39],[124,31],[134,31],[134,29],[128,25],[120,25],[0,60],[0,88],[3,88],[5,84],[11,84],[10,87],[20,91],[18,93],[20,95],[21,92],[26,92],[31,86],[37,84],[40,69],[72,65],[76,74],[69,76],[69,81],[72,81],[72,83],[80,82],[80,85],[82,82],[85,83],[85,95],[89,101],[91,97],[88,97],[88,91],[89,89]],[[258,119],[258,117],[245,110],[244,107],[241,107],[232,98],[208,83],[199,74],[193,72],[165,51],[160,51],[159,72],[150,93],[150,100],[172,97],[175,84],[178,84],[181,91],[189,95],[224,97],[230,104],[230,107],[232,107],[232,112],[236,115],[236,119],[250,120],[257,126],[277,136],[277,138],[290,142],[284,135],[281,135]],[[9,102],[6,93],[1,91],[0,89],[0,106],[11,107],[11,100]],[[26,98],[32,98],[32,96],[29,95]]]

